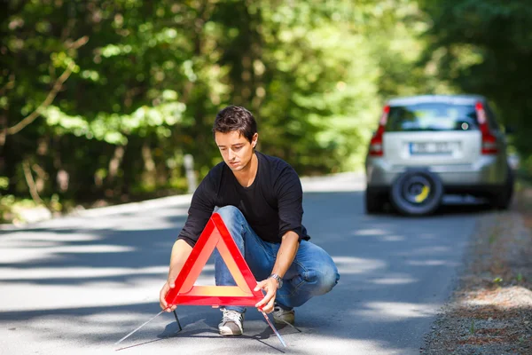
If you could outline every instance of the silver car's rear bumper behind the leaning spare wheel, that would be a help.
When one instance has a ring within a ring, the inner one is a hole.
[[[395,179],[409,169],[427,169],[442,179],[446,191],[455,186],[465,189],[475,186],[505,185],[506,163],[497,156],[483,156],[473,164],[450,164],[431,166],[399,166],[389,164],[383,158],[368,158],[366,162],[366,182],[368,186],[391,186]]]

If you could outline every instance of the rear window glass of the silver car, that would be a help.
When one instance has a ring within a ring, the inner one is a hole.
[[[391,106],[387,131],[478,130],[473,105],[423,103]]]

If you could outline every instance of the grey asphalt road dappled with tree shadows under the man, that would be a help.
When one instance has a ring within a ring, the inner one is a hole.
[[[90,210],[24,229],[0,230],[1,354],[416,354],[454,286],[477,206],[435,216],[366,216],[353,174],[304,180],[304,224],[340,270],[340,283],[279,328],[259,312],[245,335],[218,335],[221,312],[181,306],[184,329],[160,315],[158,294],[189,196]],[[214,284],[209,261],[199,283]]]

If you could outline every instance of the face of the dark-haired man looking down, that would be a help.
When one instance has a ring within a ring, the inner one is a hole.
[[[257,144],[258,137],[259,135],[255,133],[249,142],[237,130],[227,133],[215,132],[216,146],[220,149],[223,162],[232,171],[243,170],[251,162],[253,148]]]

